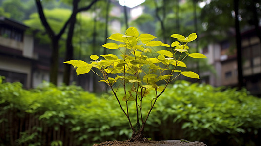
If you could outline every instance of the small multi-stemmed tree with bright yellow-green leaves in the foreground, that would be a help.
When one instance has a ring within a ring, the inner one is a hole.
[[[126,30],[125,35],[113,34],[108,39],[120,42],[106,43],[102,45],[107,49],[117,49],[120,51],[121,58],[113,54],[101,55],[103,60],[99,60],[99,56],[91,55],[91,64],[81,60],[70,60],[64,63],[72,64],[77,67],[77,74],[84,74],[93,71],[92,68],[98,68],[101,74],[96,73],[101,80],[111,88],[120,109],[127,117],[130,127],[132,128],[132,141],[144,141],[144,127],[147,119],[161,94],[165,91],[167,85],[177,78],[179,75],[184,75],[190,78],[199,79],[199,75],[191,71],[181,71],[178,68],[185,67],[186,64],[182,62],[187,56],[192,58],[205,58],[206,56],[201,53],[188,53],[188,42],[197,38],[196,33],[184,37],[179,34],[171,35],[177,38],[178,41],[173,42],[171,45],[164,44],[161,41],[154,41],[156,37],[150,34],[141,34],[136,28],[130,27]],[[141,45],[139,45],[141,43]],[[148,47],[161,46],[163,49],[152,53]],[[168,47],[166,50],[164,47]],[[157,55],[156,55],[157,54]],[[153,55],[156,55],[155,57]],[[94,72],[94,71],[93,71]],[[95,72],[94,72],[95,73]],[[116,76],[116,75],[117,76]],[[160,82],[161,81],[161,82]],[[164,82],[164,86],[158,85]],[[114,86],[118,83],[118,86]],[[122,85],[124,89],[124,96],[119,97],[116,93],[119,86]],[[142,100],[150,92],[155,93],[155,97],[150,99],[151,106],[147,112],[142,112]],[[122,106],[126,104],[125,107]],[[129,115],[129,104],[135,102],[136,105],[136,125],[131,122]],[[145,116],[144,116],[145,115]],[[140,123],[141,121],[141,123]]]

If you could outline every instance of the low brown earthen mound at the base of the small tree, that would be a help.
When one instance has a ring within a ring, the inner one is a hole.
[[[93,146],[207,146],[203,142],[189,142],[187,140],[166,140],[166,141],[146,141],[146,142],[131,142],[126,141],[106,141]]]

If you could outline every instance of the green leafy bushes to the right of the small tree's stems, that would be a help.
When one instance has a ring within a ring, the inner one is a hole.
[[[208,146],[258,145],[261,99],[249,95],[245,89],[237,91],[179,81],[167,90],[152,117],[156,117],[155,121],[163,119],[157,123],[161,125],[181,123],[184,137],[176,137],[203,141]],[[171,122],[166,124],[168,120]],[[170,139],[169,135],[175,135],[176,131],[166,127],[163,139]]]

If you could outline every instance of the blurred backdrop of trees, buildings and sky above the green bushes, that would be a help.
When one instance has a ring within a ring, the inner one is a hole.
[[[46,80],[96,91],[92,74],[62,62],[106,53],[107,38],[131,26],[165,43],[196,32],[192,48],[207,56],[193,66],[200,82],[260,96],[260,0],[0,0],[0,75],[26,88]]]

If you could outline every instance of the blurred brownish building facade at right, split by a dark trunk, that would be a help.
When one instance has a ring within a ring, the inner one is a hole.
[[[241,33],[242,73],[245,88],[251,94],[261,95],[261,44],[253,30]],[[209,44],[202,49],[214,73],[203,73],[208,76],[209,84],[213,86],[237,87],[238,67],[236,49],[230,41]]]

